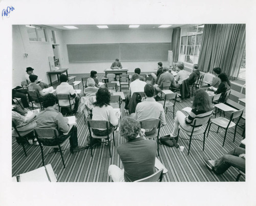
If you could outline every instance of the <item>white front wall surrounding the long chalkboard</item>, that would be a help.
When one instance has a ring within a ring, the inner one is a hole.
[[[145,43],[145,42],[171,42],[172,29],[123,29],[123,30],[71,30],[62,32],[62,40],[65,41],[62,58],[68,60],[67,44],[86,43]],[[113,62],[115,60],[113,59]],[[121,61],[123,67],[127,67],[129,72],[134,72],[136,67],[141,68],[141,72],[151,72],[157,68],[158,61]],[[69,73],[90,73],[97,70],[103,73],[105,68],[110,68],[112,62],[88,62],[69,63]],[[163,66],[167,61],[163,61]]]

